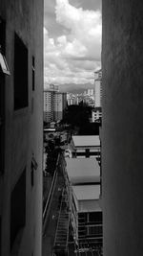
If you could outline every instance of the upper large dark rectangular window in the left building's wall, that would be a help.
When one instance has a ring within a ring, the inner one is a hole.
[[[28,49],[14,37],[14,110],[28,106]]]

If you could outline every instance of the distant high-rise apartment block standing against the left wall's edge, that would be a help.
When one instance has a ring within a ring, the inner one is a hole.
[[[56,88],[44,91],[44,121],[47,123],[63,119],[67,106],[67,93],[61,93]]]

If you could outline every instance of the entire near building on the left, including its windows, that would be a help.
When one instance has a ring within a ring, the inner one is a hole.
[[[40,256],[43,1],[0,1],[0,49],[0,255]]]

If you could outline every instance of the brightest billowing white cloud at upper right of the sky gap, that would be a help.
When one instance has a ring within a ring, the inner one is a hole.
[[[56,21],[67,27],[71,33],[70,47],[65,52],[65,56],[70,55],[71,51],[78,54],[83,48],[84,56],[100,58],[101,53],[101,12],[83,11],[82,8],[75,8],[69,4],[68,0],[56,1]],[[77,51],[78,49],[78,51]]]

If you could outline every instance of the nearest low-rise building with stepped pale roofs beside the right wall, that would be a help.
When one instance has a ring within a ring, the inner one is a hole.
[[[78,247],[102,247],[100,167],[95,158],[66,159],[67,186],[71,191],[72,228]]]

